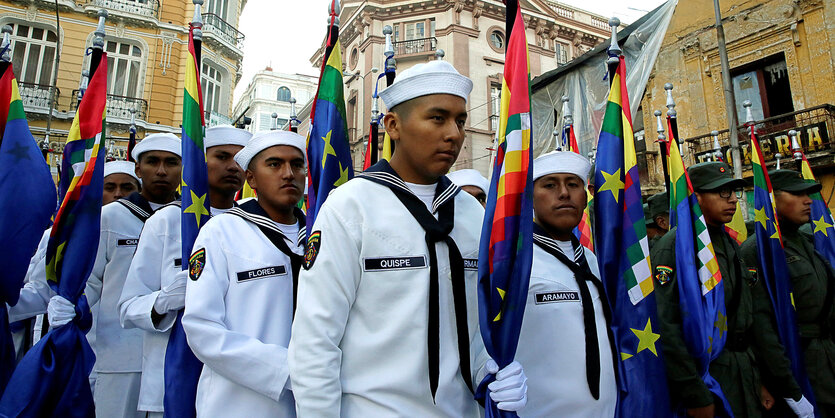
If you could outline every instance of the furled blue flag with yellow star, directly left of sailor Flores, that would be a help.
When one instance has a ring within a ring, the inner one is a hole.
[[[194,27],[189,27],[186,63],[186,82],[183,95],[183,180],[182,186],[182,257],[183,269],[191,256],[194,240],[200,228],[209,220],[209,170],[206,166],[206,147],[203,143],[206,121],[203,118],[203,95],[200,89],[200,41],[194,39]],[[183,311],[168,337],[165,350],[165,397],[163,406],[166,417],[193,417],[197,415],[194,402],[197,399],[197,380],[203,364],[197,360],[186,341],[182,325]]]

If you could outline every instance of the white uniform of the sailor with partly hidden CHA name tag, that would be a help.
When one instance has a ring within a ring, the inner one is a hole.
[[[142,372],[142,330],[123,329],[119,298],[142,227],[154,209],[139,193],[106,205],[96,262],[87,279],[87,300],[96,316],[96,416],[141,416],[137,410]]]

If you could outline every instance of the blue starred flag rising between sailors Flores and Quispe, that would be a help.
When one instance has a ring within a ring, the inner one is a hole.
[[[333,33],[333,31],[330,31]],[[333,35],[330,35],[333,36]],[[339,39],[328,39],[334,45],[319,78],[315,114],[307,140],[308,204],[307,230],[331,190],[354,177],[348,127],[345,123],[345,94],[342,91],[342,55]]]

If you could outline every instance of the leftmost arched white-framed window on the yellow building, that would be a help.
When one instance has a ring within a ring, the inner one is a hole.
[[[12,36],[12,65],[24,83],[52,84],[55,64],[55,32],[37,26],[15,24]]]

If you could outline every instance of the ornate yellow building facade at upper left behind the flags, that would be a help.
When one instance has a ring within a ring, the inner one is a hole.
[[[57,4],[57,10],[56,10]],[[237,28],[246,0],[207,0],[202,6],[202,86],[207,123],[228,123],[240,79],[244,35]],[[85,53],[96,14],[104,9],[108,54],[107,137],[124,158],[135,118],[139,138],[180,133],[191,1],[0,0],[0,25],[10,25],[11,55],[29,125],[46,140],[53,171],[75,111]]]

